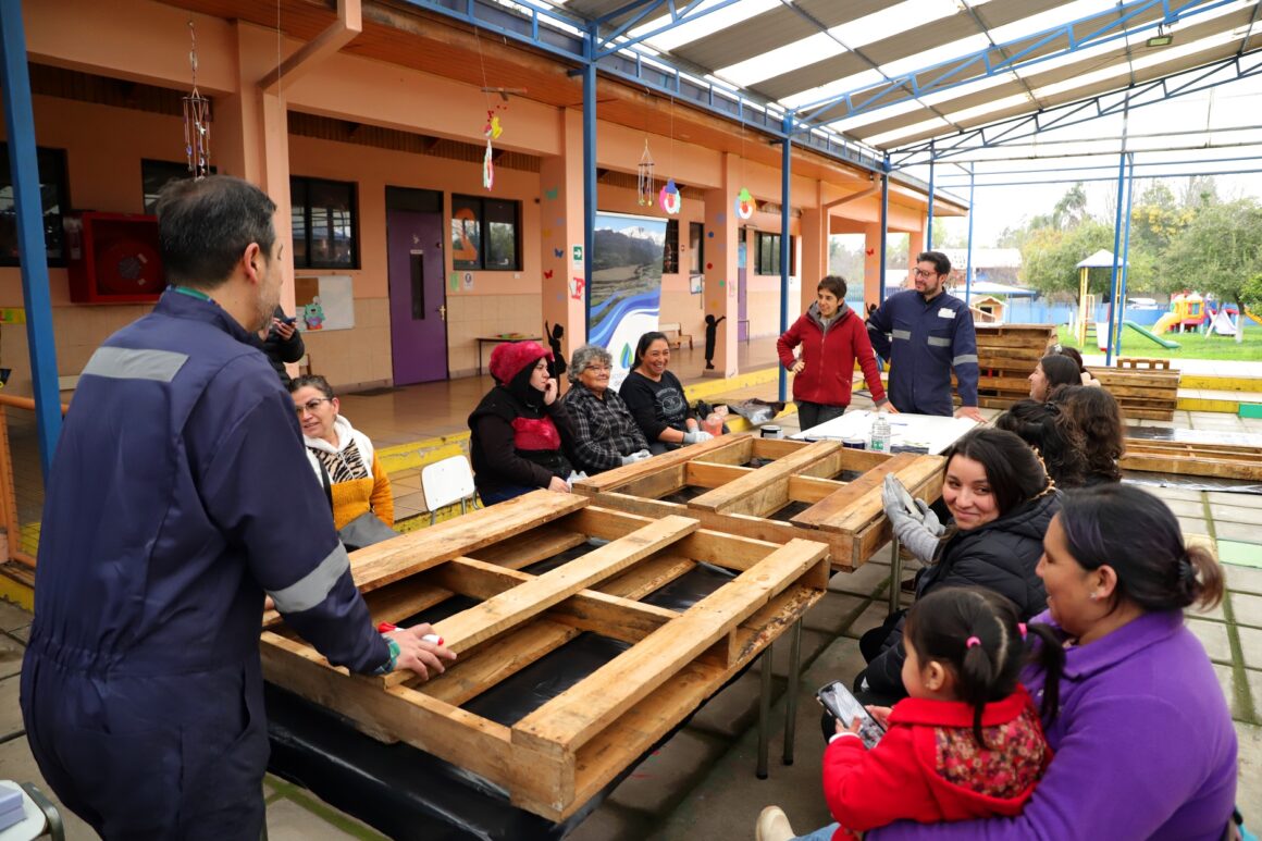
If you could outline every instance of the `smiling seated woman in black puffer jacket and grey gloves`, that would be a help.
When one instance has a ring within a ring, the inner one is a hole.
[[[916,575],[916,599],[941,587],[970,585],[1011,599],[1022,620],[1032,616],[1046,600],[1035,567],[1047,523],[1060,509],[1059,494],[1034,450],[1011,432],[973,429],[944,455],[943,501],[952,515],[945,529],[931,511],[921,522],[886,494],[886,514],[895,534],[929,563]],[[868,665],[854,683],[867,703],[907,696],[902,686],[904,617],[905,611],[895,614],[859,640]]]

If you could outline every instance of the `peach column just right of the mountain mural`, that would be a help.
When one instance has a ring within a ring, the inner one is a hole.
[[[734,376],[737,373],[736,256],[742,235],[734,203],[738,164],[737,155],[724,154],[722,186],[705,191],[705,314],[726,317],[714,336],[714,370],[705,371],[707,376]],[[752,263],[750,255],[746,271],[752,271]]]

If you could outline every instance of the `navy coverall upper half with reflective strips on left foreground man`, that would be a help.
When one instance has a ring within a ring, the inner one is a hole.
[[[45,494],[30,653],[102,677],[256,669],[265,591],[334,664],[389,659],[257,341],[168,290],[80,379]]]

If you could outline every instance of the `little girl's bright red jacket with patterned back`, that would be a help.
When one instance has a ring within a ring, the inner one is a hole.
[[[840,736],[824,751],[824,798],[842,828],[833,841],[895,821],[921,823],[1018,814],[1051,761],[1025,687],[986,705],[973,737],[973,708],[958,701],[906,698],[890,730],[868,750]]]

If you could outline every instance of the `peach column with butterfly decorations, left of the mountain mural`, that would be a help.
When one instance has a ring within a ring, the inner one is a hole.
[[[587,294],[583,263],[574,246],[583,244],[583,114],[559,109],[562,154],[543,159],[539,168],[539,236],[543,255],[543,313],[540,330],[563,330],[560,349],[569,364],[574,349],[587,342]],[[583,254],[583,259],[591,259]],[[546,333],[544,333],[546,341]],[[564,384],[563,384],[564,385]]]

